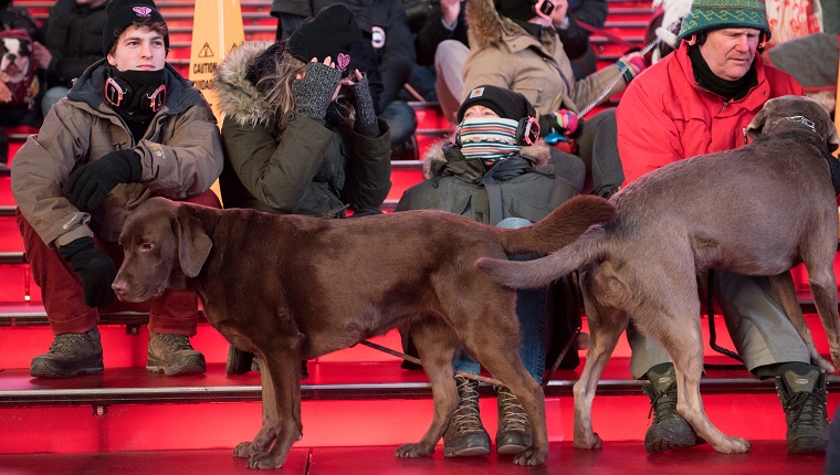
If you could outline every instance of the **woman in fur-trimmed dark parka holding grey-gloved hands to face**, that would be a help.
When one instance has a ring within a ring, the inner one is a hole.
[[[390,139],[367,77],[344,71],[359,35],[349,10],[335,6],[288,41],[244,43],[228,55],[216,77],[227,208],[378,212],[390,189]]]

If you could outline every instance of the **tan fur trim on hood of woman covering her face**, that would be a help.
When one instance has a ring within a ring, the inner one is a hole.
[[[274,107],[245,78],[248,66],[270,45],[269,42],[244,42],[216,68],[213,87],[219,108],[241,126],[266,125],[274,118]]]

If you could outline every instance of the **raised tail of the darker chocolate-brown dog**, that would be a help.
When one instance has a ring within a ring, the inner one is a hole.
[[[496,228],[507,254],[550,254],[569,245],[592,224],[616,218],[616,208],[603,198],[577,196],[527,228]]]

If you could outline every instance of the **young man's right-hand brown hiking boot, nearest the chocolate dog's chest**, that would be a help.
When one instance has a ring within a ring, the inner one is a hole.
[[[192,349],[189,337],[149,330],[147,371],[172,376],[200,374],[206,369],[204,356]]]

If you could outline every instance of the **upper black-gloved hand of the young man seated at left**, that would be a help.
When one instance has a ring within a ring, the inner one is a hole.
[[[140,156],[132,150],[114,150],[76,169],[64,183],[63,192],[82,211],[91,211],[119,183],[140,181]]]

